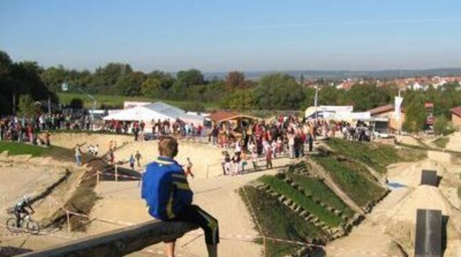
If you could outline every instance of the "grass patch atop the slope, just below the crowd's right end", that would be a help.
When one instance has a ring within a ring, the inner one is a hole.
[[[363,162],[377,172],[386,172],[386,167],[398,161],[416,161],[423,153],[414,149],[396,150],[387,144],[369,142],[350,142],[344,139],[331,139],[328,146],[339,154]]]

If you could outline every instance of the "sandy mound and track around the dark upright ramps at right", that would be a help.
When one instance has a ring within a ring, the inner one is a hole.
[[[390,188],[392,191],[367,214],[361,225],[352,230],[350,236],[328,245],[328,256],[345,256],[347,251],[353,251],[354,256],[401,256],[395,241],[410,249],[408,253],[412,254],[418,208],[442,210],[442,214],[453,217],[453,208],[442,194],[445,190],[443,186],[419,185],[422,169],[437,170],[438,175],[449,176],[445,164],[434,160],[440,156],[431,157],[416,163],[389,166],[387,177],[389,183],[395,185]],[[453,256],[451,253],[460,247],[458,232],[452,230],[455,225],[452,218],[448,229],[447,256]]]

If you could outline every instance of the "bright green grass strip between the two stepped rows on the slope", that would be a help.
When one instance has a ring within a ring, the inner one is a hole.
[[[304,210],[318,216],[321,221],[325,222],[330,227],[336,227],[341,224],[339,216],[336,216],[334,213],[323,208],[321,205],[312,200],[312,198],[307,197],[305,194],[292,188],[292,186],[288,185],[285,181],[270,175],[260,177],[259,181],[268,184],[273,190],[288,197]]]

